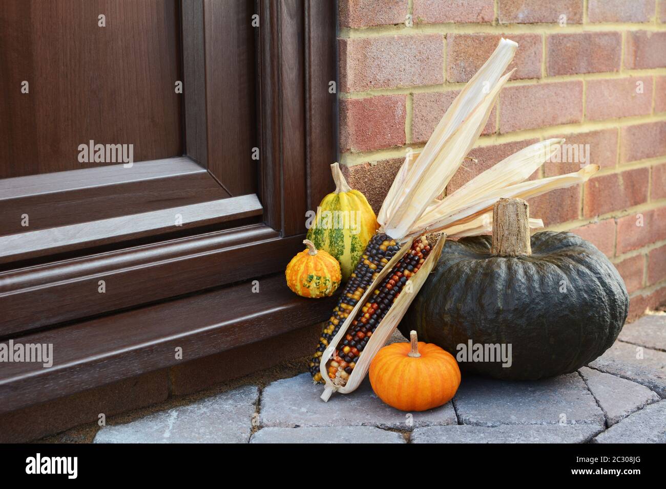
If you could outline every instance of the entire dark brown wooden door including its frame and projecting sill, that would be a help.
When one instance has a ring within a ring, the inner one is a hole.
[[[3,365],[0,413],[325,319],[284,267],[332,190],[335,29],[319,0],[2,1],[0,342],[57,368]]]

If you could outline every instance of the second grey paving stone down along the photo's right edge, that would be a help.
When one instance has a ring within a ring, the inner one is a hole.
[[[643,358],[636,357],[641,354]],[[666,397],[666,353],[615,341],[589,367],[645,385],[661,399]]]

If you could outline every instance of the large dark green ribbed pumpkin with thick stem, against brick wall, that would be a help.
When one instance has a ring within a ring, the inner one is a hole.
[[[520,202],[523,230],[513,226],[516,236],[508,240],[519,251],[498,253],[507,236],[498,236],[496,205],[496,253],[491,236],[448,240],[399,326],[406,337],[414,329],[421,341],[457,358],[464,351],[459,345],[469,340],[511,344],[510,367],[501,361],[461,362],[467,373],[534,380],[573,372],[613,345],[627,319],[627,289],[607,257],[567,232],[540,232],[529,240],[527,204]]]

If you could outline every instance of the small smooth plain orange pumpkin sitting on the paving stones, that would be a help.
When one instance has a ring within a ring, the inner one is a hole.
[[[384,403],[402,411],[442,406],[456,395],[460,369],[456,359],[432,343],[393,343],[378,351],[370,363],[370,384]]]

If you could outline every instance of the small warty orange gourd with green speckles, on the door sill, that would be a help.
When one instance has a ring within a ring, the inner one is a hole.
[[[310,240],[308,247],[294,256],[284,275],[287,285],[301,297],[328,297],[338,289],[342,273],[340,263],[326,251],[317,251]]]

